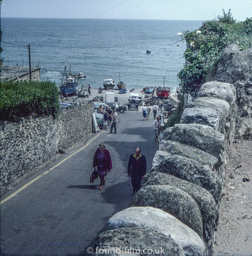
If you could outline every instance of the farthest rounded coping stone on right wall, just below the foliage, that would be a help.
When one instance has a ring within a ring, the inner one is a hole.
[[[225,100],[230,106],[235,104],[236,90],[232,84],[211,81],[204,83],[198,92],[198,97],[214,97]]]

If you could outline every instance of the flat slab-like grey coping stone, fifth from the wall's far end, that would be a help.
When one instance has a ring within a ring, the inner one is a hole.
[[[203,150],[178,141],[162,140],[159,143],[159,150],[166,151],[169,155],[180,155],[198,161],[202,165],[208,165],[211,169],[217,165],[218,159]]]

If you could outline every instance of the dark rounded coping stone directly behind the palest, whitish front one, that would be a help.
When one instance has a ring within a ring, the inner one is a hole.
[[[200,209],[195,200],[181,189],[167,186],[145,186],[138,190],[129,207],[152,206],[172,214],[202,236]]]

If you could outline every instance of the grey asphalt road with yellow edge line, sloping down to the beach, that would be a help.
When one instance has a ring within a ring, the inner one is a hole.
[[[148,170],[158,150],[152,135],[153,115],[143,121],[141,112],[126,111],[118,114],[118,119],[117,134],[109,134],[108,126],[84,147],[50,162],[1,198],[2,202],[28,185],[1,204],[4,254],[89,255],[87,248],[94,247],[97,235],[107,230],[108,219],[125,209],[134,196],[127,175],[129,155],[139,146]],[[89,179],[95,150],[102,141],[111,154],[113,168],[99,191],[99,178],[93,184]]]

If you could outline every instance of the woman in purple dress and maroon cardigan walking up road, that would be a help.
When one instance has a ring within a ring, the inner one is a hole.
[[[102,190],[102,186],[105,185],[105,176],[107,172],[110,172],[112,169],[112,161],[109,154],[109,151],[106,149],[106,146],[103,142],[99,144],[99,148],[95,151],[93,159],[93,167],[97,166],[97,172],[101,179],[99,190]]]

